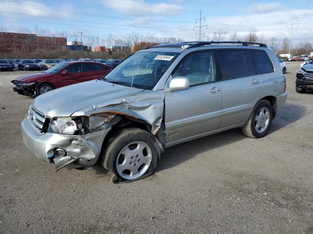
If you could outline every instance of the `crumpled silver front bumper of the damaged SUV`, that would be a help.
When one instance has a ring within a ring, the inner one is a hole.
[[[55,170],[88,167],[94,165],[99,156],[104,137],[111,128],[83,136],[68,136],[54,133],[37,134],[26,117],[21,123],[22,138],[29,150],[39,159],[55,163]],[[65,156],[56,156],[62,149]]]

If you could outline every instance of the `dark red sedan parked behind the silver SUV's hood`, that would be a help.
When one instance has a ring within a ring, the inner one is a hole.
[[[25,75],[11,82],[18,94],[39,96],[63,86],[102,78],[111,69],[111,66],[98,62],[62,62],[45,72]]]

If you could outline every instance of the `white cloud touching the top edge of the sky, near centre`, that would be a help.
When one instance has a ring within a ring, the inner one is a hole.
[[[115,10],[116,12],[123,13],[125,15],[142,16],[142,15],[177,15],[181,13],[183,8],[178,4],[169,3],[157,3],[150,4],[145,0],[104,0],[102,4],[108,8]]]

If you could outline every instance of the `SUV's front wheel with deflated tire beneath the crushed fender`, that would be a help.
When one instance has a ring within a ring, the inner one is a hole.
[[[155,139],[147,131],[123,129],[109,140],[101,165],[109,171],[108,176],[113,183],[145,178],[156,171],[158,154],[154,145]]]

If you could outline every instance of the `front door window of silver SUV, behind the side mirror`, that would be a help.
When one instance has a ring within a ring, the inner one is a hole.
[[[216,81],[213,53],[209,51],[187,55],[172,77],[187,77],[190,85]]]

